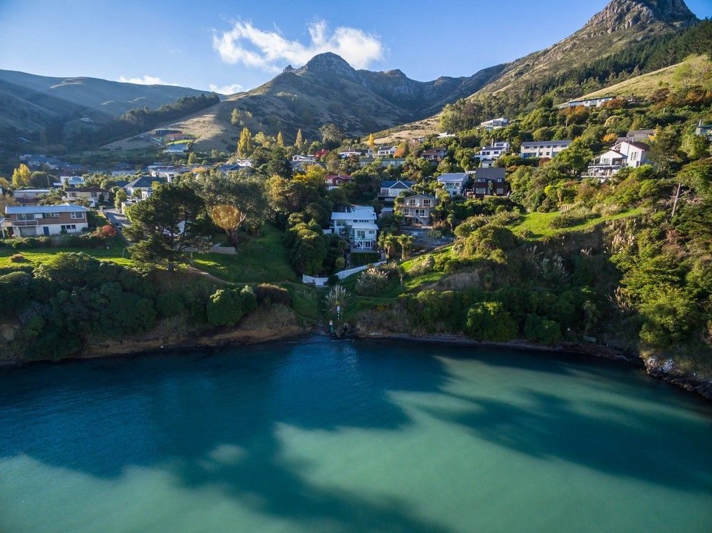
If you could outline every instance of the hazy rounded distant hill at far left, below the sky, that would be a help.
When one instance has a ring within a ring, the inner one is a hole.
[[[0,128],[36,132],[53,120],[88,117],[106,122],[137,107],[155,109],[206,91],[138,85],[98,78],[49,78],[0,70]]]

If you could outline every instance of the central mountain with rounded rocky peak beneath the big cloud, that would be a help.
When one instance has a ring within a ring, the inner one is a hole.
[[[199,137],[198,149],[234,149],[243,126],[252,132],[282,131],[293,139],[301,129],[318,138],[320,126],[334,123],[351,136],[432,115],[448,102],[473,93],[493,80],[502,65],[469,78],[411,80],[400,70],[355,70],[333,53],[315,56],[301,68],[288,66],[276,78],[246,93],[165,126]],[[231,124],[234,109],[248,112],[241,125]]]

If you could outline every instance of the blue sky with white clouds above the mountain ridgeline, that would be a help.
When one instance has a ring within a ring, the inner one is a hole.
[[[235,92],[330,50],[357,68],[432,80],[546,48],[606,4],[0,0],[0,68]],[[710,0],[687,4],[712,16]]]

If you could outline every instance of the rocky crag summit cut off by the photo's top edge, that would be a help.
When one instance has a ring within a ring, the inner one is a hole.
[[[612,33],[632,26],[661,22],[686,25],[698,19],[684,0],[611,0],[581,29],[583,33]]]

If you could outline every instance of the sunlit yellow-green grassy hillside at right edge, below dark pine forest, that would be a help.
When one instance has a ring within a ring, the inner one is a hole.
[[[597,90],[595,93],[589,93],[583,98],[607,95],[648,97],[661,87],[677,90],[684,86],[703,83],[706,76],[709,76],[711,68],[712,61],[706,56],[692,56],[682,63],[630,78],[616,85]]]

